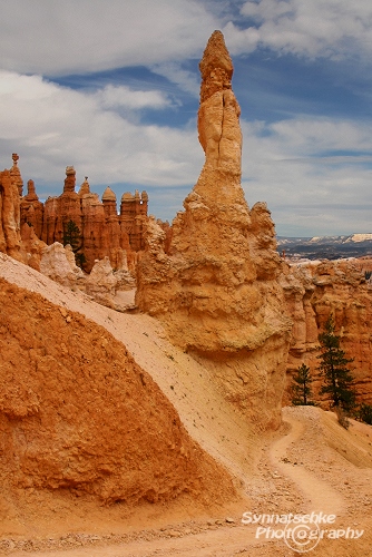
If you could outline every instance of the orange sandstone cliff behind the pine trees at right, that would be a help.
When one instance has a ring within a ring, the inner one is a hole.
[[[369,262],[362,267],[368,268]],[[311,262],[293,265],[281,277],[287,311],[294,325],[287,364],[287,384],[294,371],[304,362],[315,379],[313,390],[319,399],[322,379],[319,374],[317,336],[329,315],[335,321],[335,333],[355,377],[359,402],[372,403],[372,284],[364,278],[361,262],[353,260]],[[284,403],[291,400],[287,390]],[[326,399],[323,397],[325,407]]]

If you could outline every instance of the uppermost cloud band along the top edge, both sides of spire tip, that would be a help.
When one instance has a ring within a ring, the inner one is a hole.
[[[61,76],[137,65],[167,71],[169,65],[170,72],[177,70],[176,82],[194,88],[179,62],[198,57],[206,38],[221,28],[233,55],[257,46],[311,58],[371,55],[370,0],[251,0],[239,20],[236,8],[209,0],[2,2],[1,67]],[[252,20],[246,29],[243,18]]]

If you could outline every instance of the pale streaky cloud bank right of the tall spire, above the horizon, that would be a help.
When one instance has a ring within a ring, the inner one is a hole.
[[[248,204],[266,201],[284,235],[371,229],[372,138],[368,124],[294,118],[243,123]]]

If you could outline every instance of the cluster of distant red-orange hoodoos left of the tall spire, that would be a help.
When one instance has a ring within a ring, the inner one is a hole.
[[[13,172],[13,175],[16,179],[17,173]],[[78,193],[75,188],[76,172],[72,166],[66,168],[63,193],[59,197],[48,197],[45,204],[39,201],[33,182],[29,180],[28,194],[21,199],[21,224],[31,225],[36,235],[51,245],[63,243],[66,227],[72,222],[79,229],[79,245],[75,252],[84,254],[85,271],[90,272],[95,261],[106,256],[114,268],[128,271],[129,266],[134,271],[136,252],[144,247],[146,192],[141,195],[138,192],[135,195],[124,194],[118,214],[116,195],[109,187],[101,201],[98,194],[90,192],[87,176]]]

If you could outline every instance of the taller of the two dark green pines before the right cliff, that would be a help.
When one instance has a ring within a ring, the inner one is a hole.
[[[319,335],[322,353],[320,371],[324,378],[321,394],[330,394],[333,407],[350,410],[355,405],[355,393],[352,388],[353,375],[347,364],[353,359],[345,358],[345,352],[340,348],[340,336],[334,334],[334,321],[330,316],[324,325],[324,332]]]

